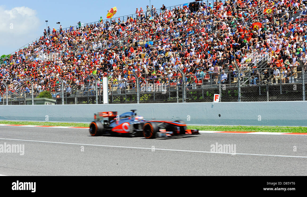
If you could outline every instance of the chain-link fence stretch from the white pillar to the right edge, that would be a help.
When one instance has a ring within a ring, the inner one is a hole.
[[[225,70],[185,75],[185,79],[181,75],[173,77],[171,74],[162,78],[140,79],[139,92],[135,85],[128,87],[127,81],[110,82],[112,91],[109,92],[109,101],[212,102],[214,94],[220,94],[221,102],[304,100],[304,71],[299,67]],[[120,85],[121,83],[126,85]]]

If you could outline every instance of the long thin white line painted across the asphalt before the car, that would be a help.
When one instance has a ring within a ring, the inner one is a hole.
[[[95,145],[95,144],[77,144],[77,143],[67,143],[67,142],[36,141],[36,140],[20,140],[20,139],[6,139],[6,138],[0,138],[0,139],[2,139],[2,140],[17,140],[17,141],[44,142],[44,143],[54,143],[54,144],[72,144],[72,145],[87,145],[87,146],[103,146],[103,147],[115,147],[115,148],[127,148],[127,149],[150,149],[150,150],[152,150],[152,148],[142,148],[142,147],[110,146],[110,145]],[[249,153],[235,153],[235,154],[234,154],[234,153],[217,153],[217,152],[195,151],[195,150],[176,150],[176,149],[155,149],[155,150],[180,151],[180,152],[193,152],[193,153],[216,153],[216,154],[231,154],[231,155],[252,155],[252,156],[275,156],[275,157],[307,158],[307,156],[262,155],[262,154],[249,154]]]

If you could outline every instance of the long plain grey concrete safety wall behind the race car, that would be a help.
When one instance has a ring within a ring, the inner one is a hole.
[[[97,112],[132,109],[146,120],[181,119],[189,125],[307,126],[307,101],[2,105],[0,120],[91,122]]]

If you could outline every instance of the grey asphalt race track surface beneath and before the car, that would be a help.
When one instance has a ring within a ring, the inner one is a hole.
[[[307,175],[306,135],[201,133],[150,140],[91,137],[87,129],[0,126],[0,138],[0,144],[25,145],[24,155],[0,153],[0,174],[7,176]],[[216,143],[236,145],[237,154],[211,153]]]

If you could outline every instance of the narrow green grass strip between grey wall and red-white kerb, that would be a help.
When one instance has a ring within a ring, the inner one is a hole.
[[[74,122],[25,122],[25,121],[0,121],[7,125],[41,125],[41,126],[79,126],[88,127],[89,123]],[[283,132],[283,133],[307,133],[307,127],[291,126],[188,126],[187,129],[199,129],[204,131],[250,131],[250,132]]]

